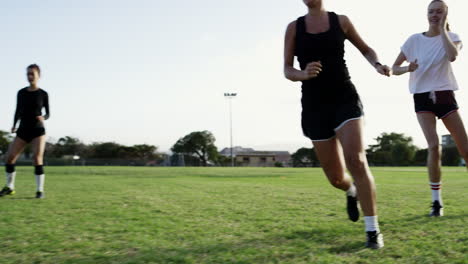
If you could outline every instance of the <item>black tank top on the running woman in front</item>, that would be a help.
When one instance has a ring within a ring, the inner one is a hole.
[[[337,93],[333,89],[335,84],[350,80],[346,61],[344,60],[344,41],[346,36],[341,29],[338,16],[334,12],[328,12],[330,28],[326,32],[307,33],[305,16],[299,17],[296,22],[295,55],[299,61],[301,70],[308,63],[320,61],[322,72],[310,80],[302,82],[302,91],[308,93]],[[338,85],[339,86],[339,85]],[[323,89],[327,89],[324,91]]]

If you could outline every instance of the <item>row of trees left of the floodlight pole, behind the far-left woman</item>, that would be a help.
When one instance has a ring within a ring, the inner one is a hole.
[[[11,134],[0,130],[0,155],[8,151],[12,140]],[[219,154],[215,141],[211,132],[196,131],[177,140],[171,151],[177,154],[176,158],[182,156],[186,166],[225,166],[229,159]],[[26,148],[24,152],[30,156],[31,149]],[[59,138],[57,142],[47,142],[44,156],[46,159],[151,161],[153,165],[165,161],[176,163],[167,154],[158,152],[158,147],[154,145],[125,146],[115,142],[85,144],[70,136]]]

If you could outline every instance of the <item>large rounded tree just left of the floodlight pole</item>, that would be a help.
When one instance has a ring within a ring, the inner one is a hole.
[[[192,132],[177,140],[171,151],[197,157],[203,166],[207,166],[208,161],[216,162],[218,158],[215,141],[215,137],[209,131]]]

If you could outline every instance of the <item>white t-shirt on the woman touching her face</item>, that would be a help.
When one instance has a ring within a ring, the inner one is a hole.
[[[460,41],[457,34],[448,34],[453,42]],[[422,33],[414,34],[406,40],[401,51],[407,61],[418,60],[418,69],[410,73],[409,89],[412,94],[458,90],[451,63],[445,56],[441,35],[426,37]]]

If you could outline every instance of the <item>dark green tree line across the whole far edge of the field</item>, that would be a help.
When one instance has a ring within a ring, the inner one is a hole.
[[[12,136],[0,130],[0,154],[6,153]],[[158,152],[158,147],[147,144],[125,146],[115,142],[85,144],[79,139],[66,136],[57,142],[47,142],[46,158],[64,158],[79,156],[80,159],[121,159],[144,160],[158,165],[176,165],[183,157],[185,166],[228,166],[230,158],[220,155],[215,145],[216,139],[209,131],[196,131],[181,137],[171,148],[176,154],[168,157]],[[26,154],[30,152],[25,150]],[[382,133],[376,138],[376,144],[366,149],[371,166],[425,166],[427,149],[419,149],[411,137],[399,133]],[[454,145],[442,149],[442,165],[457,166],[460,155]],[[291,155],[293,167],[317,167],[320,163],[313,148],[300,148]]]

